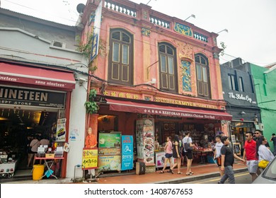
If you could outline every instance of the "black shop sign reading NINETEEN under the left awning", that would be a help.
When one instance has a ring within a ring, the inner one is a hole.
[[[0,104],[64,109],[66,93],[0,86]]]

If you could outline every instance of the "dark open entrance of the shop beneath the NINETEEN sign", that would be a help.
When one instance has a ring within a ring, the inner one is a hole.
[[[7,105],[6,105],[7,106]],[[39,107],[6,107],[0,105],[0,165],[6,161],[15,162],[12,177],[32,175],[32,166],[28,167],[28,147],[33,136],[45,136],[54,141],[58,110],[41,109]],[[37,163],[40,163],[37,161]],[[0,168],[1,169],[1,168]],[[6,172],[6,168],[4,172]],[[2,175],[3,177],[6,177]],[[0,178],[4,179],[3,177]]]

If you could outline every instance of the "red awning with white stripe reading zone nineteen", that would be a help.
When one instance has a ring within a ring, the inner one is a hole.
[[[0,81],[74,89],[74,74],[66,71],[0,63]]]

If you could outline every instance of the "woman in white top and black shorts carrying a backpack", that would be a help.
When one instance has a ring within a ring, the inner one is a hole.
[[[191,166],[192,166],[192,147],[195,146],[192,144],[192,139],[190,138],[190,132],[185,132],[185,137],[183,138],[183,145],[185,156],[187,157],[187,170],[186,175],[192,175]]]

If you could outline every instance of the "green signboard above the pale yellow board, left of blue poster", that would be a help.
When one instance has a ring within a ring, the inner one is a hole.
[[[117,133],[100,133],[99,148],[120,148],[121,134]]]

